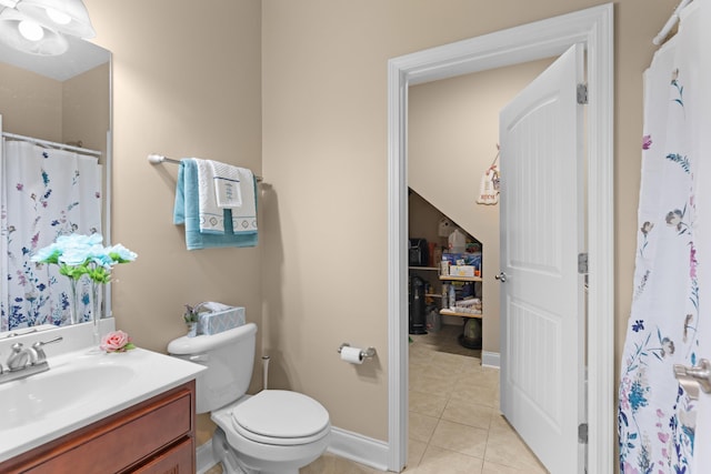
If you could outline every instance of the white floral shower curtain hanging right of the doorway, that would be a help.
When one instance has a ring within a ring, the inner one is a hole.
[[[704,127],[711,111],[701,107],[709,93],[699,68],[709,61],[698,21],[703,1],[682,12],[679,33],[644,73],[634,293],[618,412],[620,471],[625,474],[690,474],[693,466],[697,402],[675,380],[673,365],[695,365],[704,343],[699,327],[708,324],[702,301],[709,285],[698,271],[711,264],[709,243],[698,232],[699,223],[711,219],[703,202],[711,177],[703,172],[708,164],[701,147],[711,133]]]

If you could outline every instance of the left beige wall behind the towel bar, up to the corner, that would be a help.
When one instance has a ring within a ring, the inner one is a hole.
[[[96,42],[113,52],[112,236],[139,254],[116,270],[117,325],[164,352],[186,333],[183,304],[210,300],[246,306],[261,329],[263,243],[187,251],[172,223],[178,167],[147,161],[199,157],[261,173],[260,3],[84,3]],[[212,425],[200,422],[204,441]]]

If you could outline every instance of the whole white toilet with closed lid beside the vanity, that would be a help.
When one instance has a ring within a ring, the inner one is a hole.
[[[257,325],[248,323],[214,335],[178,337],[168,353],[208,367],[197,380],[197,412],[212,412],[218,425],[212,450],[226,473],[297,474],[328,447],[329,413],[297,392],[246,395],[256,335]]]

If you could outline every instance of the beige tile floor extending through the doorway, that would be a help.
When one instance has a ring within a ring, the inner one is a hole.
[[[499,412],[499,371],[459,345],[461,326],[412,335],[405,474],[545,474]],[[216,474],[221,470],[210,470]],[[326,454],[300,474],[379,474]]]

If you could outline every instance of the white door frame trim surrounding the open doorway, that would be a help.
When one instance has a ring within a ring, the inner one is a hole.
[[[588,472],[613,471],[613,6],[605,3],[388,61],[388,468],[408,453],[408,88],[461,74],[588,53]]]

